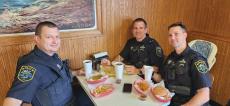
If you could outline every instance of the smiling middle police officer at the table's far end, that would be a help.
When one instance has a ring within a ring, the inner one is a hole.
[[[163,64],[164,55],[158,42],[147,34],[147,22],[137,18],[132,22],[134,38],[127,41],[125,47],[114,61],[123,61],[125,70],[130,73],[139,73],[143,65],[153,66],[157,71]],[[110,65],[110,61],[103,59],[102,64]]]

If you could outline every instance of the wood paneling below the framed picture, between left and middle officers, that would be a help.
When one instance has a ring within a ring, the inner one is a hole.
[[[84,59],[89,59],[92,53],[105,49],[103,40],[101,39],[102,37],[100,36],[63,39],[59,54],[63,59],[70,60],[72,69],[80,68]]]

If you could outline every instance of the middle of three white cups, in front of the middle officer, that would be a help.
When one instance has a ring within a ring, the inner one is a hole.
[[[121,80],[123,78],[124,64],[122,62],[116,62],[115,71],[116,71],[116,79]]]

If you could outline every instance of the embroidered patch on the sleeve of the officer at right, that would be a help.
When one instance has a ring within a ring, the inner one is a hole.
[[[203,60],[198,60],[197,62],[195,62],[195,66],[200,73],[208,72],[208,66]]]

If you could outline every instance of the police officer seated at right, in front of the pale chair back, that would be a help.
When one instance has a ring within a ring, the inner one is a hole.
[[[185,25],[174,23],[168,30],[169,44],[175,50],[166,58],[160,73],[166,87],[175,92],[170,105],[208,105],[211,80],[206,59],[187,45]],[[156,75],[154,79],[159,80]]]

